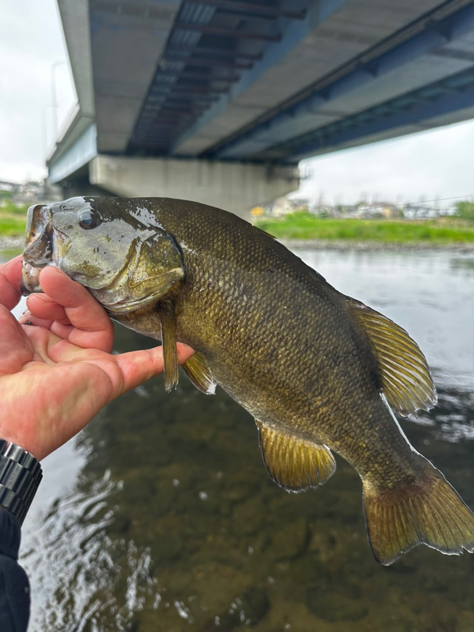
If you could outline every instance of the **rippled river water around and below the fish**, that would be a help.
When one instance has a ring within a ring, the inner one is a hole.
[[[427,353],[439,405],[401,423],[474,506],[473,258],[299,254]],[[117,351],[152,344],[117,327]],[[474,629],[473,556],[418,547],[379,566],[352,468],[337,459],[322,489],[287,494],[265,472],[252,418],[184,374],[171,395],[160,377],[109,404],[49,459],[22,545],[31,632]]]

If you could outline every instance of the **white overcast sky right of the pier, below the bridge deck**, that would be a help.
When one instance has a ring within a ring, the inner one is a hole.
[[[474,121],[303,161],[298,195],[332,204],[474,195]]]

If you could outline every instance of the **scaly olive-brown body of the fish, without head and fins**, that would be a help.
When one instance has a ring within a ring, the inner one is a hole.
[[[214,209],[206,217],[197,206],[198,226],[182,202],[159,210],[186,269],[167,296],[179,341],[200,351],[217,383],[261,423],[332,447],[362,475],[377,472],[381,485],[407,477],[412,451],[380,399],[377,365],[346,297],[262,231],[231,214],[217,222]],[[153,308],[117,320],[156,337]]]

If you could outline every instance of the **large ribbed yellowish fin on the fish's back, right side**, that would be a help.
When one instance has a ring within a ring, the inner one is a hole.
[[[396,413],[404,417],[430,410],[437,402],[425,356],[399,325],[367,305],[349,298],[349,312],[362,326],[382,379],[382,391]]]

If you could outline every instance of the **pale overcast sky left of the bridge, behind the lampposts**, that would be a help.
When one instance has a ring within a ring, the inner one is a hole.
[[[0,35],[0,179],[21,181],[46,175],[51,148],[51,68],[67,61],[54,0],[7,0]],[[56,69],[58,120],[75,104],[67,66]]]

